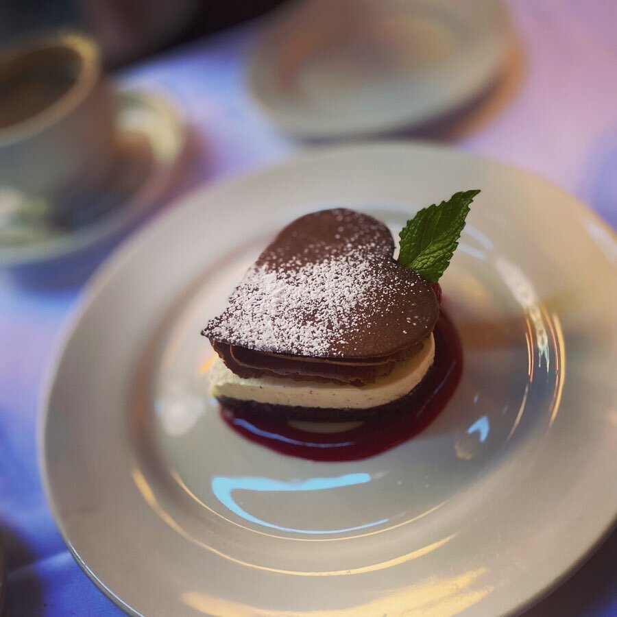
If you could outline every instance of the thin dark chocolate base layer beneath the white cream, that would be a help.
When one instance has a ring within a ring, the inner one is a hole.
[[[255,417],[271,418],[276,420],[306,420],[312,422],[349,422],[353,420],[370,420],[383,415],[396,415],[398,413],[420,413],[418,403],[422,400],[422,384],[426,376],[433,370],[431,367],[423,380],[408,394],[397,398],[389,403],[376,407],[301,407],[300,405],[277,405],[261,403],[254,400],[239,400],[220,396],[219,403],[225,409],[229,409],[241,415],[254,415]]]

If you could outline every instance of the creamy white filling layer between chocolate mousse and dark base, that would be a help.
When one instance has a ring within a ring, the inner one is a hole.
[[[365,386],[294,381],[282,377],[243,379],[217,358],[210,369],[210,394],[239,400],[300,407],[365,409],[401,398],[415,388],[435,358],[435,340],[429,335],[422,350],[394,370]]]

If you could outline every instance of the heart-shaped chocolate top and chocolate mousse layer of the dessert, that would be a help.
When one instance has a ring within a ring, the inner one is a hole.
[[[243,378],[373,383],[418,352],[439,317],[430,283],[393,255],[373,217],[342,208],[300,217],[202,334]]]

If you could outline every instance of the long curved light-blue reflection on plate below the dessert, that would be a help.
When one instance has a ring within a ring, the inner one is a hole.
[[[374,527],[375,525],[387,522],[388,519],[383,518],[381,520],[368,522],[363,525],[357,525],[356,527],[346,527],[345,529],[293,529],[291,527],[281,527],[280,525],[276,525],[252,516],[252,514],[245,511],[241,505],[237,503],[232,493],[237,490],[256,492],[322,491],[345,486],[365,484],[370,481],[371,476],[365,473],[345,474],[343,476],[332,478],[309,478],[307,480],[293,480],[289,482],[260,476],[215,476],[212,479],[212,490],[217,499],[232,512],[236,513],[238,516],[241,516],[245,520],[263,525],[264,527],[278,529],[279,531],[294,531],[296,533],[308,534],[343,533],[345,531],[357,531],[358,529]]]

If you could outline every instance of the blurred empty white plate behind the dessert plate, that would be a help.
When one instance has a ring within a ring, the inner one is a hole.
[[[248,83],[263,111],[298,136],[417,127],[486,88],[512,36],[499,2],[304,0],[258,44]]]

